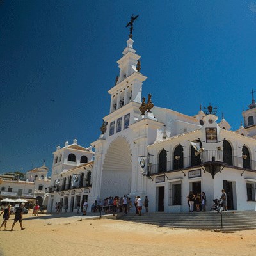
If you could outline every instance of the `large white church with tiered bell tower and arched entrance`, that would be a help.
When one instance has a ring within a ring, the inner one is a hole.
[[[228,209],[256,210],[253,92],[252,103],[242,113],[244,127],[241,124],[237,131],[230,131],[223,117],[218,121],[212,106],[205,111],[200,107],[195,116],[154,106],[151,95],[143,98],[147,77],[140,73],[133,43],[130,35],[117,61],[120,75],[108,91],[109,114],[103,117],[102,134],[91,143],[95,150],[74,140],[72,147],[67,144],[54,152],[48,210],[61,200],[73,211],[77,200],[82,204],[85,198],[90,205],[109,196],[128,195],[134,200],[147,195],[150,212],[187,212],[189,191],[195,195],[204,191],[209,210],[221,189],[227,192]],[[70,161],[70,154],[76,155],[75,160]],[[83,156],[86,161],[81,161]],[[145,159],[143,168],[138,159]],[[67,186],[71,174],[79,174],[79,186]],[[58,191],[54,180],[59,182]]]

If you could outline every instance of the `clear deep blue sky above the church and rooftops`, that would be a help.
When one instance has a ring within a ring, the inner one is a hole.
[[[211,102],[239,128],[256,90],[256,1],[0,0],[0,173],[51,170],[56,146],[99,138],[132,13],[143,96],[186,115]]]

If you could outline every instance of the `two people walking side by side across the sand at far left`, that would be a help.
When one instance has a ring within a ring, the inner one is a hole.
[[[15,224],[17,223],[17,221],[19,221],[19,223],[20,223],[20,229],[21,230],[25,229],[22,225],[22,215],[23,215],[24,205],[25,205],[25,203],[21,203],[20,206],[17,207],[11,231],[13,231],[13,228],[14,228]],[[12,207],[12,205],[10,205],[10,204],[7,205],[7,207],[0,214],[0,216],[3,214],[3,223],[0,226],[0,230],[3,227],[3,225],[4,225],[4,230],[6,230],[7,221],[10,219],[10,215],[11,215],[11,207]]]

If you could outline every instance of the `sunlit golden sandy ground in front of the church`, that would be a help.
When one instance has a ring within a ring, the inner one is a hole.
[[[81,216],[24,217],[0,232],[0,255],[253,255],[256,230],[232,233],[156,227]],[[3,228],[2,228],[3,230]]]

